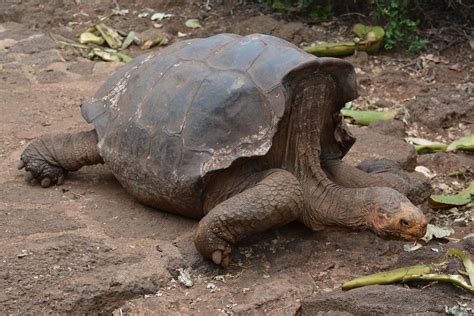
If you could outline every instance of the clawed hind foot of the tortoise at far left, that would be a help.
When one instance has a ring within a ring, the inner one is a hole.
[[[43,188],[53,184],[60,185],[67,171],[51,161],[51,154],[43,141],[36,139],[21,154],[18,169],[25,168],[27,171],[25,179],[31,184],[37,181]]]

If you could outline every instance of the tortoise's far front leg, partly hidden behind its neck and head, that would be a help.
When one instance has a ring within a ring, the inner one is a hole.
[[[341,160],[330,160],[322,163],[322,167],[328,177],[341,186],[389,187],[405,195],[414,204],[422,203],[431,191],[429,182],[402,170],[390,160],[367,161],[360,169]]]

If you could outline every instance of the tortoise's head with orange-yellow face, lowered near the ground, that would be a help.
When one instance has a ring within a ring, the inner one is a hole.
[[[417,240],[426,233],[428,220],[404,195],[390,188],[373,188],[368,206],[368,227],[391,239]]]

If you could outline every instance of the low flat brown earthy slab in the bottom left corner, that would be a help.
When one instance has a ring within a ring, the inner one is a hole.
[[[142,260],[143,255],[119,254],[98,240],[73,234],[13,243],[0,256],[2,310],[106,312],[126,299],[158,290],[166,273],[157,267],[139,274]]]

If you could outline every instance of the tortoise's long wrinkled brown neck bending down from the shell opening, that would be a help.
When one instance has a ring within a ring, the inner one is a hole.
[[[289,91],[283,165],[303,186],[305,210],[301,221],[312,229],[331,225],[366,228],[369,192],[339,186],[321,168],[322,159],[340,159],[350,147],[345,138],[337,137],[342,135],[338,134],[342,104],[334,80],[313,70],[294,78]]]

